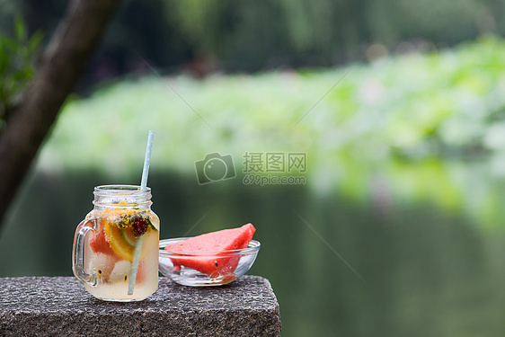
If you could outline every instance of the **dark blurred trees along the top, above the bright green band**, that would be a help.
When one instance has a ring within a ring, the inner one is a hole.
[[[66,2],[0,0],[0,29],[22,11],[31,25],[52,31]],[[104,36],[98,60],[120,74],[137,55],[160,67],[195,58],[225,71],[328,67],[364,59],[367,47],[387,50],[427,41],[454,46],[487,33],[505,33],[505,0],[128,0]],[[40,20],[43,17],[43,20]],[[5,19],[4,19],[5,18]],[[4,19],[4,20],[2,20]]]

